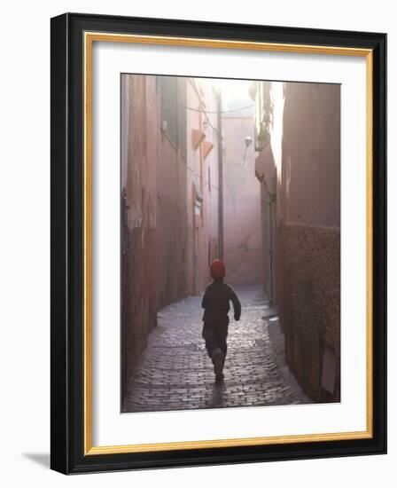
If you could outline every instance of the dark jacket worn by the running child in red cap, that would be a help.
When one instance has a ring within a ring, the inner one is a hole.
[[[223,283],[222,279],[214,279],[207,285],[201,306],[203,307],[205,322],[218,322],[228,320],[230,301],[233,303],[234,318],[240,319],[241,303],[230,285]]]

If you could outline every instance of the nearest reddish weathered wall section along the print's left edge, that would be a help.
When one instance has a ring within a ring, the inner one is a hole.
[[[127,247],[121,255],[121,357],[123,392],[136,358],[156,324],[157,174],[151,134],[156,128],[155,86],[144,76],[123,80],[122,118],[128,126],[121,141],[122,185],[128,201]],[[149,130],[149,131],[148,131]],[[155,147],[155,146],[154,146]],[[152,165],[152,170],[148,167]]]

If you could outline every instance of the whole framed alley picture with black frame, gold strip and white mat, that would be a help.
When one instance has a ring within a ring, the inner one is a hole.
[[[51,468],[386,452],[385,55],[51,20]]]

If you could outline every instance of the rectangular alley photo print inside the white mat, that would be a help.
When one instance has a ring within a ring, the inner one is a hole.
[[[340,398],[340,85],[121,74],[121,412]]]

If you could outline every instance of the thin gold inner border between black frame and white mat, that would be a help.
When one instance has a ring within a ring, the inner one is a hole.
[[[222,49],[238,49],[253,51],[277,51],[291,53],[327,54],[342,56],[359,56],[366,59],[366,406],[367,428],[363,431],[337,432],[324,434],[303,434],[294,436],[277,437],[244,437],[232,439],[199,440],[189,442],[169,442],[159,444],[136,445],[92,445],[92,48],[94,42],[107,43],[143,43],[162,44],[183,47],[207,47]],[[186,449],[206,449],[214,447],[232,447],[249,445],[280,445],[304,442],[323,442],[365,439],[373,437],[373,344],[372,344],[372,219],[373,219],[373,194],[372,194],[372,148],[373,148],[373,53],[370,49],[346,48],[339,46],[316,46],[306,44],[288,43],[261,43],[245,41],[227,41],[222,39],[200,39],[189,37],[172,37],[158,35],[127,35],[111,34],[105,32],[84,32],[84,455],[115,454],[115,453],[149,453],[160,451],[175,451]]]

